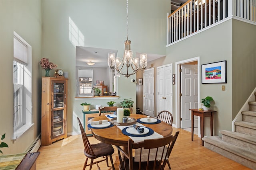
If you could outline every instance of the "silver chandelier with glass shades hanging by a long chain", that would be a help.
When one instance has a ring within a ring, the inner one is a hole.
[[[128,0],[126,0],[126,31],[127,39],[124,41],[124,56],[122,60],[119,57],[116,57],[115,53],[108,53],[108,66],[113,70],[115,69],[118,74],[122,74],[128,78],[129,76],[136,74],[138,70],[144,71],[148,65],[147,54],[140,54],[140,60],[139,58],[132,58],[131,41],[128,40]],[[139,64],[141,68],[139,67]],[[129,68],[132,68],[131,71],[129,71]]]

